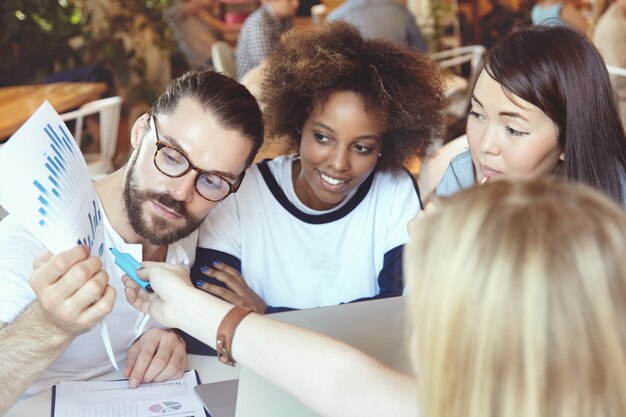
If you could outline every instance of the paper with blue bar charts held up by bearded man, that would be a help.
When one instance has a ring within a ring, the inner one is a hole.
[[[102,209],[85,159],[47,101],[0,148],[0,205],[52,253],[104,253]]]

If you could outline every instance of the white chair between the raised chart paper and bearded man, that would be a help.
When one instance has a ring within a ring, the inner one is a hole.
[[[96,114],[100,116],[100,152],[83,153],[87,168],[93,178],[99,178],[113,172],[113,157],[117,146],[121,111],[122,98],[115,96],[91,101],[78,110],[61,115],[63,121],[74,120],[76,122],[73,135],[79,147],[83,137],[85,117]]]

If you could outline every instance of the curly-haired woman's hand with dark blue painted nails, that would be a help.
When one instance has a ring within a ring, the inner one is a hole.
[[[198,288],[209,294],[216,295],[232,304],[250,307],[255,313],[264,314],[267,304],[261,297],[248,287],[241,274],[233,267],[224,262],[216,261],[213,268],[203,267],[201,271],[207,277],[212,277],[223,282],[227,288],[219,285],[198,281]]]

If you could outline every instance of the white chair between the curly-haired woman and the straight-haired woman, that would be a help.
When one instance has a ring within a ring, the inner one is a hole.
[[[451,100],[448,112],[455,117],[463,117],[467,111],[472,88],[474,82],[476,82],[478,69],[485,51],[486,49],[482,45],[469,45],[435,52],[430,55],[430,59],[437,61],[442,68],[454,69],[466,62],[470,63],[470,74],[467,78],[453,73],[447,80],[446,95]]]

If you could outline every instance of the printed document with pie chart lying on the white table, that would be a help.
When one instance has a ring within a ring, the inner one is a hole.
[[[52,417],[208,416],[193,391],[199,383],[193,369],[181,379],[135,389],[128,380],[62,381],[53,388]]]

